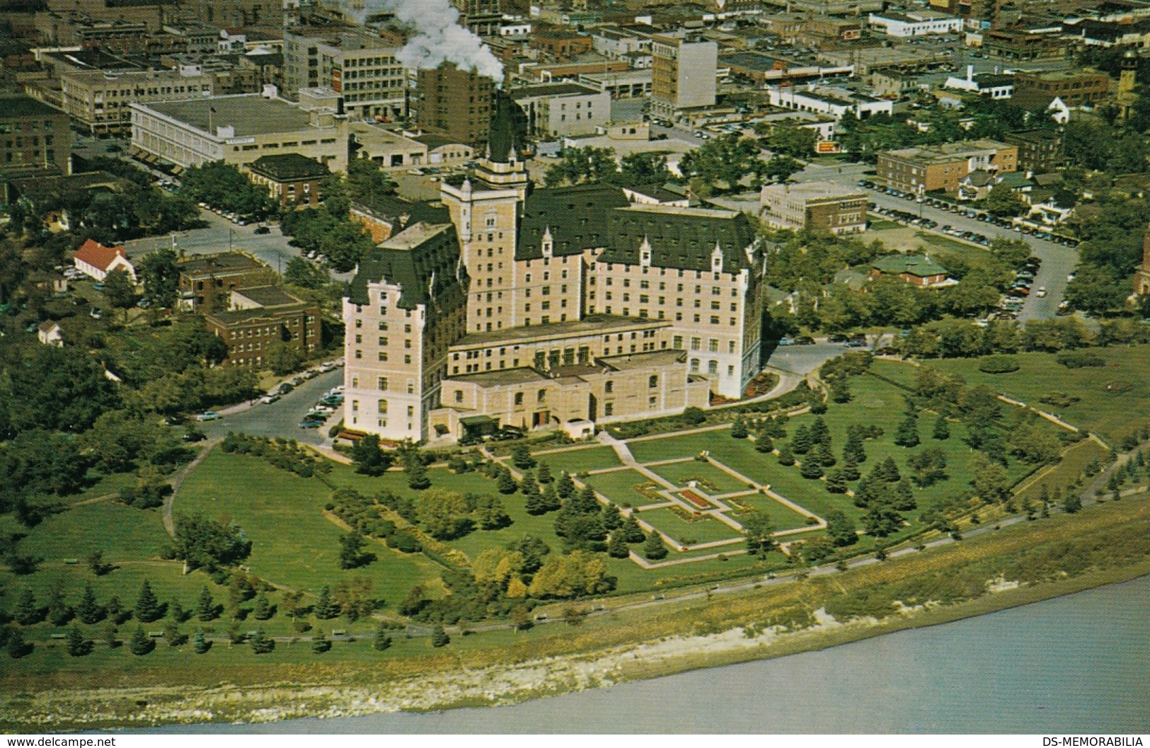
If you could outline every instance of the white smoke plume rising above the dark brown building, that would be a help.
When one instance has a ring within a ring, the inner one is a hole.
[[[369,12],[385,12],[414,32],[396,58],[422,70],[453,62],[458,68],[503,81],[503,64],[473,31],[459,25],[448,0],[368,0]]]

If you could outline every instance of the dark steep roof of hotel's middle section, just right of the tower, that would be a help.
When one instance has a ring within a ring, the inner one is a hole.
[[[523,206],[516,260],[543,257],[543,237],[550,230],[555,257],[578,254],[607,242],[607,214],[629,203],[614,186],[577,185],[536,190]]]

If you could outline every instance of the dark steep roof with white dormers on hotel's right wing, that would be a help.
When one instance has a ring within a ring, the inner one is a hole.
[[[746,247],[754,229],[742,213],[712,208],[634,205],[615,208],[607,220],[607,249],[600,262],[639,264],[639,249],[651,249],[651,265],[680,270],[711,270],[719,247],[722,272],[751,268]]]

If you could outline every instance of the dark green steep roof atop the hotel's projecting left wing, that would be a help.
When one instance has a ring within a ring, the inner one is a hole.
[[[459,238],[452,223],[416,223],[379,244],[360,262],[348,288],[353,304],[369,304],[368,283],[400,288],[398,306],[414,310],[436,305],[440,297],[462,290],[467,275],[459,262]]]

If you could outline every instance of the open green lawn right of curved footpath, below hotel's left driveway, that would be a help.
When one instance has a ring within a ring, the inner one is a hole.
[[[332,473],[337,483],[351,482],[352,475],[350,470]],[[432,484],[437,478],[432,478]],[[402,475],[389,474],[374,481],[399,490],[397,479]],[[355,486],[366,488],[371,480],[355,481]],[[476,480],[490,486],[486,479]],[[401,486],[406,489],[406,481]],[[439,566],[425,556],[399,554],[382,544],[370,548],[377,556],[371,564],[340,570],[343,531],[322,513],[330,493],[314,478],[291,475],[255,457],[214,451],[184,483],[176,511],[200,511],[236,521],[252,541],[247,562],[252,572],[277,585],[317,593],[323,585],[366,575],[373,580],[375,594],[393,608],[414,585],[438,577]]]

